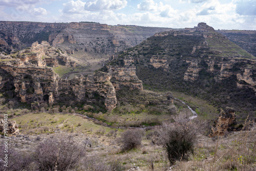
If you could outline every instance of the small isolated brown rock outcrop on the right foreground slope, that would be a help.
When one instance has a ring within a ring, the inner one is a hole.
[[[221,110],[218,119],[214,122],[211,128],[210,137],[222,136],[229,131],[235,131],[234,125],[237,124],[236,114],[232,108],[226,108],[224,111]]]

